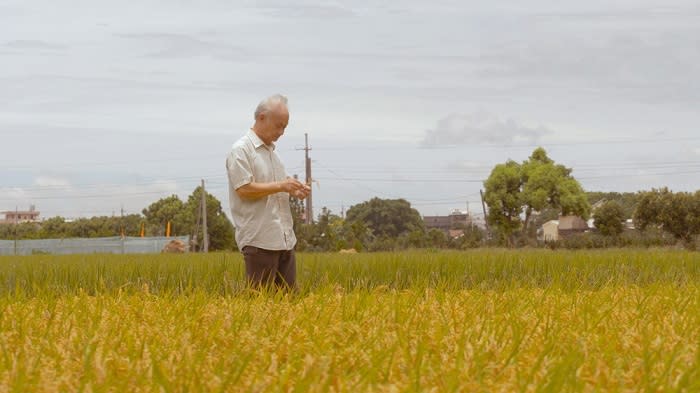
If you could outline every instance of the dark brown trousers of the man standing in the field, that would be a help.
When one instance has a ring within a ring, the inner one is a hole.
[[[265,250],[245,246],[241,251],[249,285],[261,287],[274,284],[280,288],[295,288],[297,261],[294,250]]]

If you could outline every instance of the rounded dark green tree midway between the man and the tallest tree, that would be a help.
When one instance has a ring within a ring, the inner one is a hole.
[[[364,223],[377,238],[397,238],[413,231],[425,233],[423,218],[405,199],[372,198],[350,207],[345,220],[351,226]]]

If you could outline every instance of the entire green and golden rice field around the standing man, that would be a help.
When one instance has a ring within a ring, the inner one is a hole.
[[[0,258],[0,392],[700,391],[700,254]]]

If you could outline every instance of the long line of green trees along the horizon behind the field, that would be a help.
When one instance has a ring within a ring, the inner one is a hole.
[[[350,207],[345,217],[323,208],[313,224],[304,224],[302,201],[291,198],[297,249],[301,251],[386,251],[405,248],[473,248],[480,246],[536,246],[537,230],[562,215],[592,217],[595,230],[561,242],[564,247],[666,245],[672,239],[695,247],[700,234],[700,191],[672,192],[667,188],[636,193],[585,192],[573,169],[555,163],[537,148],[523,162],[496,165],[484,182],[489,232],[461,225],[462,235],[451,238],[441,230],[427,230],[420,213],[405,199],[372,198]],[[162,198],[124,217],[92,217],[67,221],[53,217],[39,223],[0,225],[0,239],[69,237],[163,236],[197,237],[201,244],[200,200],[197,187],[186,200]],[[233,226],[221,202],[206,193],[210,250],[235,250]],[[634,220],[630,235],[625,221]]]

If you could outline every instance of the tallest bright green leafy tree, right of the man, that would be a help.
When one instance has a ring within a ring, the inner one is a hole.
[[[496,165],[484,182],[487,220],[511,243],[518,229],[522,228],[523,237],[533,234],[534,214],[547,208],[588,218],[590,204],[571,172],[555,164],[541,147],[522,164],[508,160]]]

